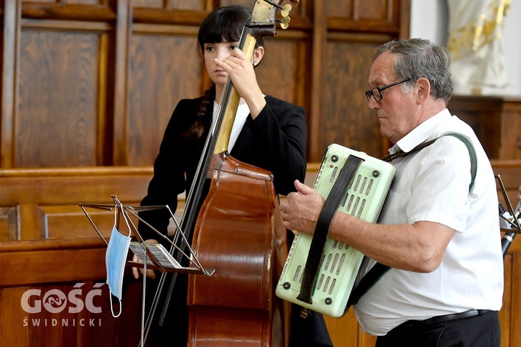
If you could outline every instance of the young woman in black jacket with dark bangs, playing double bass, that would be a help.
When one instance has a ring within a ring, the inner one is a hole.
[[[151,179],[147,196],[141,205],[169,205],[172,211],[177,207],[177,196],[190,189],[194,179],[197,164],[208,136],[208,130],[215,117],[218,101],[230,76],[235,90],[241,96],[240,105],[235,115],[235,122],[229,140],[230,155],[247,164],[270,170],[274,175],[276,193],[286,195],[295,190],[293,182],[304,180],[306,174],[306,113],[304,108],[297,107],[286,101],[265,95],[259,87],[254,67],[263,59],[265,49],[262,38],[257,41],[251,60],[238,49],[238,41],[242,28],[250,16],[250,11],[242,6],[226,6],[217,8],[206,17],[199,28],[199,50],[208,76],[214,85],[197,99],[179,101],[167,125],[163,142],[160,145],[158,157],[154,162],[154,177]],[[188,193],[188,192],[187,192]],[[240,194],[240,192],[238,192]],[[167,211],[142,212],[140,216],[151,226],[163,234],[167,234],[169,214]],[[139,231],[147,242],[156,242],[158,237],[142,225]],[[292,236],[292,235],[290,235]],[[133,269],[135,278],[140,273]],[[147,271],[147,276],[154,278],[153,271]],[[184,299],[185,276],[177,276],[182,287],[177,296]],[[176,304],[177,305],[177,304]],[[171,305],[172,306],[172,305]],[[170,307],[176,315],[176,327],[167,328],[169,346],[172,341],[181,341],[185,345],[185,337],[174,337],[173,330],[184,334],[186,318],[178,307]],[[298,317],[299,310],[293,310]],[[323,317],[315,314],[315,319],[292,320],[292,330],[306,342],[318,339],[317,346],[322,342],[331,345]],[[299,328],[297,320],[302,320],[305,328]],[[311,332],[313,337],[307,333]],[[292,341],[297,344],[297,337]],[[307,344],[309,346],[309,344]]]

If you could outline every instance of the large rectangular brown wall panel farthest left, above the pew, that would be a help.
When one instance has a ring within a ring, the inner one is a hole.
[[[16,167],[97,164],[99,48],[98,33],[22,31]]]

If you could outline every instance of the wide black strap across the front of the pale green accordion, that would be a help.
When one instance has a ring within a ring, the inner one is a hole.
[[[324,246],[326,244],[327,235],[329,234],[329,224],[331,224],[333,214],[338,210],[342,197],[345,195],[345,192],[347,192],[347,187],[352,183],[361,162],[363,162],[363,159],[349,155],[344,167],[340,170],[336,182],[331,188],[331,192],[329,192],[326,198],[324,207],[318,217],[317,226],[315,226],[311,245],[309,246],[308,258],[306,259],[306,266],[304,266],[304,273],[302,274],[300,294],[297,296],[299,301],[304,301],[304,303],[308,304],[313,303],[313,288],[317,280],[320,259],[322,258],[322,254],[324,254]]]

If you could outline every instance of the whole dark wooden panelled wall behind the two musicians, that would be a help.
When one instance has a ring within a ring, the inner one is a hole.
[[[208,87],[198,26],[231,3],[254,0],[1,1],[0,168],[151,165],[176,103]],[[408,13],[406,0],[302,0],[267,38],[258,78],[308,111],[309,161],[331,142],[380,154],[363,90]]]

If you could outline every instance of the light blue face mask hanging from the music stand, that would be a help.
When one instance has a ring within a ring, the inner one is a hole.
[[[124,212],[122,212],[123,217],[126,221],[126,217]],[[117,208],[115,208],[115,217],[117,216]],[[127,226],[129,226],[129,222],[126,221]],[[131,229],[129,226],[129,236],[122,235],[116,228],[116,223],[114,221],[114,226],[112,229],[112,234],[110,234],[110,240],[108,242],[107,251],[105,253],[105,266],[107,269],[107,285],[108,290],[110,291],[110,311],[114,317],[118,317],[122,312],[122,291],[123,291],[123,275],[126,264],[126,255],[129,253],[129,246],[131,242]],[[114,314],[113,304],[112,304],[112,296],[117,297],[119,300],[119,313],[117,315]]]

